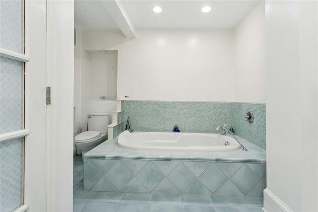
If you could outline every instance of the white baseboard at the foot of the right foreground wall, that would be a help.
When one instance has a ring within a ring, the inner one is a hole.
[[[264,190],[264,212],[292,212],[278,197],[267,188]]]

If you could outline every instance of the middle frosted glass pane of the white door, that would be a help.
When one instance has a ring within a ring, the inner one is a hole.
[[[0,133],[23,129],[24,63],[0,57]]]

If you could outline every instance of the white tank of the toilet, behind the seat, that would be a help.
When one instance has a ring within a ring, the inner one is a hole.
[[[108,113],[88,113],[87,114],[88,131],[99,131],[107,133],[109,125],[109,114]]]

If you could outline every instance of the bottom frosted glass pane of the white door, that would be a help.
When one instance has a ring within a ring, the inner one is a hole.
[[[23,205],[24,138],[0,142],[0,212]]]

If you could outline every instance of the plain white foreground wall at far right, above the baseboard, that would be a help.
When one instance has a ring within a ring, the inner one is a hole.
[[[266,211],[318,211],[317,24],[317,1],[266,1]]]

